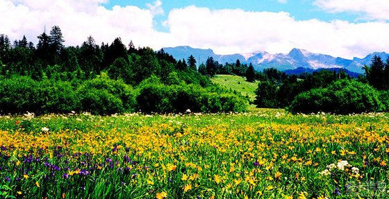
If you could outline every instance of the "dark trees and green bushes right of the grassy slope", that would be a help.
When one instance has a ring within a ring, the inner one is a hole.
[[[345,71],[316,71],[288,76],[265,69],[256,89],[257,107],[282,107],[290,112],[337,114],[389,111],[389,59],[379,56],[365,66],[366,76],[350,78]]]

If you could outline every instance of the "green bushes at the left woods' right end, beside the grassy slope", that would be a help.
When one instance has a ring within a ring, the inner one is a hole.
[[[199,85],[163,85],[152,77],[140,84],[136,100],[142,112],[243,112],[246,101],[224,89]]]

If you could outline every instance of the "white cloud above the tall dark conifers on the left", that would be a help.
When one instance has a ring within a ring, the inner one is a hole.
[[[136,6],[114,6],[106,9],[106,0],[0,0],[0,33],[12,40],[26,35],[35,44],[44,28],[60,26],[66,45],[80,45],[89,35],[97,42],[112,42],[122,37],[125,43],[133,40],[141,46],[163,46],[165,33],[153,28],[154,15],[161,12],[161,2],[150,9]]]

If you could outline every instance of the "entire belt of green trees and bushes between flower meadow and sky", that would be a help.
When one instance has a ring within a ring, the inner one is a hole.
[[[38,35],[38,44],[10,42],[0,35],[0,114],[92,112],[245,112],[256,107],[292,113],[349,114],[389,110],[389,59],[379,56],[365,76],[342,69],[288,75],[274,68],[255,71],[250,63],[175,60],[163,49],[127,46],[118,37],[96,44],[65,46],[59,26]],[[258,83],[255,101],[211,83],[216,74],[244,76]]]

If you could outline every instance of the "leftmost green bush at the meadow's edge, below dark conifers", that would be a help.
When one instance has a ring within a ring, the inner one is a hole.
[[[54,80],[37,82],[13,76],[0,81],[0,107],[3,114],[25,112],[67,113],[80,109],[78,95],[70,83]]]

